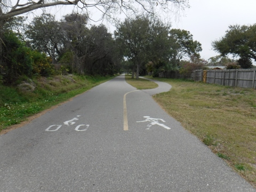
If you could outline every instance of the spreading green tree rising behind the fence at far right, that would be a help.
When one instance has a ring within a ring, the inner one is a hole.
[[[213,49],[221,53],[222,56],[233,54],[243,61],[254,59],[256,61],[256,25],[250,26],[229,26],[226,35],[219,41],[212,42]],[[243,63],[243,62],[241,62]],[[243,67],[251,67],[250,61]]]

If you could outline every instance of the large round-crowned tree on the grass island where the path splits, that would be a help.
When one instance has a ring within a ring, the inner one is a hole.
[[[168,31],[169,26],[160,20],[150,20],[145,16],[118,23],[115,31],[116,41],[120,49],[123,49],[124,57],[132,61],[133,74],[136,68],[137,79],[141,66],[149,61],[158,62],[163,58],[168,45]]]

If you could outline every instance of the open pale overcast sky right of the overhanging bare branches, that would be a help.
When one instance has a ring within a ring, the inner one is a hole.
[[[202,44],[201,58],[207,60],[219,53],[214,52],[211,42],[225,35],[230,25],[252,25],[256,23],[256,0],[189,0],[179,21],[173,28],[190,31],[194,40]]]

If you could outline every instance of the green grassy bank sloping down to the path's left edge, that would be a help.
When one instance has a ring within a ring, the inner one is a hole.
[[[34,91],[0,85],[0,131],[113,77],[54,76],[33,79]]]

